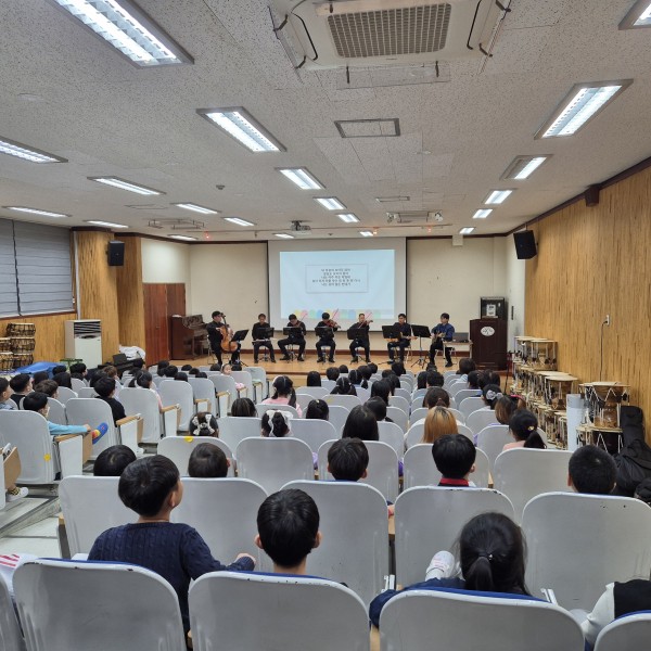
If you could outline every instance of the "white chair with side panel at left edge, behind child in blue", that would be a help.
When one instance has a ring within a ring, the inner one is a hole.
[[[61,476],[81,474],[87,436],[50,435],[48,422],[36,411],[0,410],[2,445],[11,443],[21,457],[21,485],[53,484]],[[85,441],[86,439],[86,441]]]

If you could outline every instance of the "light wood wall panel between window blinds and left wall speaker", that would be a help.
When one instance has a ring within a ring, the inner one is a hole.
[[[79,231],[75,235],[80,318],[102,321],[102,359],[111,359],[119,352],[117,275],[106,255],[113,235],[103,231]]]

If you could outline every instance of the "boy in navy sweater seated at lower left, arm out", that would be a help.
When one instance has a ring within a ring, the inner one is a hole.
[[[188,588],[190,580],[207,572],[253,570],[255,560],[238,554],[226,566],[213,558],[208,546],[194,528],[171,523],[169,516],[183,496],[177,467],[161,455],[130,463],[119,477],[118,495],[124,505],[136,511],[135,524],[110,528],[94,541],[89,561],[112,561],[142,565],[159,574],[175,589],[183,627],[190,629]],[[156,553],[151,550],[155,549]]]

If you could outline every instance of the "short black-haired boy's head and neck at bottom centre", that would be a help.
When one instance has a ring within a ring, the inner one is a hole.
[[[273,561],[276,574],[305,574],[307,554],[319,547],[319,509],[303,490],[270,495],[258,509],[255,544]]]

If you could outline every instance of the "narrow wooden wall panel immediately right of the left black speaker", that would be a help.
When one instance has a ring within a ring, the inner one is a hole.
[[[119,343],[145,348],[141,238],[118,238],[125,243],[125,264],[116,267]]]

